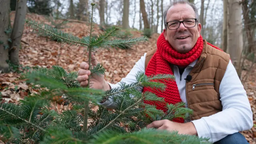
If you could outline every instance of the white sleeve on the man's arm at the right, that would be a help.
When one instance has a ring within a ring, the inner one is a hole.
[[[249,130],[253,115],[246,91],[229,61],[219,88],[223,109],[214,115],[192,121],[199,137],[210,138],[214,143],[227,135]]]

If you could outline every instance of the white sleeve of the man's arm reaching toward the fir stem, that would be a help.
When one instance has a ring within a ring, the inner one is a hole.
[[[108,84],[110,85],[111,89],[119,87],[121,82],[124,82],[126,84],[131,84],[131,83],[135,83],[137,82],[136,80],[136,74],[141,71],[143,73],[145,73],[145,57],[146,57],[147,53],[144,53],[144,56],[141,56],[141,58],[135,63],[135,65],[133,66],[133,68],[131,69],[131,71],[127,74],[126,77],[122,78],[120,82],[116,83],[116,84],[111,84],[108,82]],[[140,91],[142,92],[142,89],[140,89]],[[103,105],[107,108],[115,108],[116,104],[113,102],[113,99],[111,97],[109,97],[109,99],[104,102],[104,103],[98,103],[100,105]]]

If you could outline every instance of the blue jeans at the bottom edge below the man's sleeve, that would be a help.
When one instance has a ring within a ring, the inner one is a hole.
[[[249,144],[241,133],[234,133],[224,137],[214,144]]]

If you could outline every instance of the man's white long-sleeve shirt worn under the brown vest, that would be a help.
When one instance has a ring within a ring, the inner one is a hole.
[[[145,72],[145,56],[146,53],[139,61],[136,62],[127,76],[121,79],[122,82],[125,82],[126,84],[137,82],[135,78],[137,72]],[[180,97],[185,103],[187,103],[187,101],[185,93],[186,81],[184,78],[186,78],[192,70],[196,61],[192,62],[187,68],[185,68],[182,75],[179,74],[178,67],[174,66],[174,76]],[[119,86],[119,83],[120,82],[117,84],[109,83],[109,85],[111,88],[115,88]],[[231,61],[229,61],[224,77],[220,83],[219,93],[220,101],[223,106],[222,111],[208,117],[202,117],[201,119],[191,121],[195,125],[198,136],[210,138],[209,141],[212,143],[229,134],[249,130],[253,126],[253,115],[246,91],[244,90]],[[102,105],[109,108],[115,107],[115,103],[113,103],[111,98],[109,98],[109,101],[102,103]]]

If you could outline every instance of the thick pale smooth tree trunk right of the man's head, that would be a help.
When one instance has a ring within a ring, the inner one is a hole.
[[[243,48],[242,6],[240,0],[228,0],[228,53],[235,68],[238,68]]]

